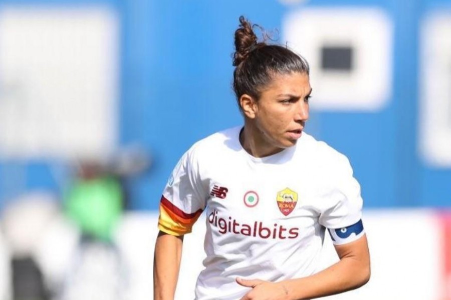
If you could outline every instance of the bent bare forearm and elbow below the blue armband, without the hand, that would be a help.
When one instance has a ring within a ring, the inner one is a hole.
[[[366,244],[366,236],[360,241]],[[344,255],[330,267],[308,277],[280,282],[290,299],[309,299],[351,290],[365,284],[370,277],[367,247],[357,255]]]

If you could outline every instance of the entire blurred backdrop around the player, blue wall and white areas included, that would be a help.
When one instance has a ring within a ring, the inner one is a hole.
[[[0,0],[1,299],[151,297],[172,168],[243,123],[240,15],[308,60],[306,131],[362,186],[374,279],[343,297],[451,299],[451,0]]]

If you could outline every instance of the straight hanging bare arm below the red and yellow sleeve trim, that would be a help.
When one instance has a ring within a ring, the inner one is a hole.
[[[153,299],[173,300],[177,285],[183,235],[160,231],[155,243],[153,259]]]

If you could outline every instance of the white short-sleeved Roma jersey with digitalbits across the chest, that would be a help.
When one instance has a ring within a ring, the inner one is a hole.
[[[303,132],[296,145],[256,158],[242,147],[240,128],[196,142],[161,198],[159,228],[169,234],[190,232],[206,210],[197,300],[241,298],[250,289],[236,277],[275,282],[313,274],[325,228],[337,229],[336,244],[364,234],[351,226],[361,227],[362,198],[346,156]]]

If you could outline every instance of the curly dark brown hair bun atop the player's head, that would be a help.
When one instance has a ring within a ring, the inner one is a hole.
[[[240,26],[235,31],[235,53],[233,65],[237,66],[248,57],[249,52],[258,46],[257,35],[254,33],[253,24],[242,15]]]

